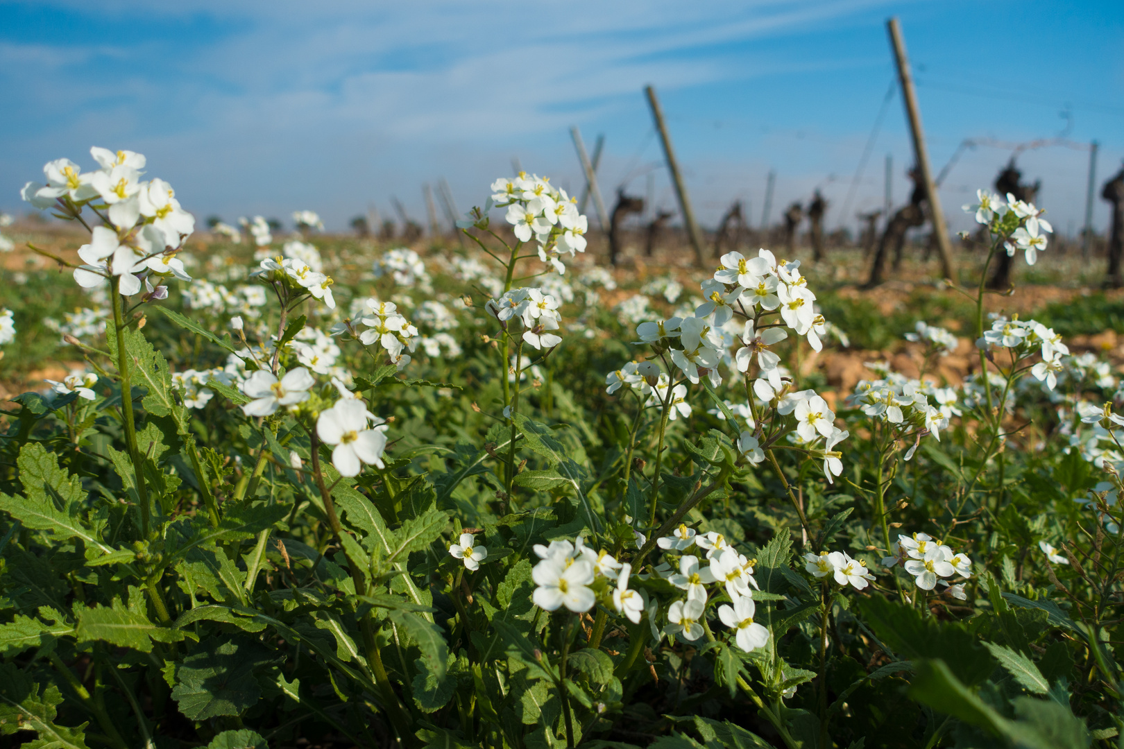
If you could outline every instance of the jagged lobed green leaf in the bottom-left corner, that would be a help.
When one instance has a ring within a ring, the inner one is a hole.
[[[88,749],[87,723],[74,728],[55,723],[55,707],[62,702],[58,687],[48,686],[40,695],[26,672],[0,664],[0,734],[34,731],[37,738],[20,745],[22,749]]]

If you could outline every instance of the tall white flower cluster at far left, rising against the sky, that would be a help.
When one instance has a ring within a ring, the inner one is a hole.
[[[143,181],[146,159],[132,150],[116,153],[93,147],[90,155],[100,168],[82,172],[69,158],[43,167],[46,184],[28,182],[22,198],[35,208],[54,208],[76,218],[89,207],[102,220],[91,240],[79,249],[83,265],[74,270],[79,285],[90,289],[118,277],[121,294],[132,296],[144,285],[147,299],[165,299],[163,281],[190,281],[175,257],[194,230],[196,219],[180,207],[175,192],[163,180]]]

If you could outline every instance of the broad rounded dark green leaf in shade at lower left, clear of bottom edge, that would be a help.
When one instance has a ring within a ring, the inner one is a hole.
[[[241,715],[257,703],[262,691],[254,668],[270,660],[270,652],[255,642],[228,640],[200,646],[200,652],[183,659],[175,669],[172,698],[188,720]]]

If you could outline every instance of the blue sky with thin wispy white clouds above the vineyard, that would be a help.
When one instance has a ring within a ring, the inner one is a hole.
[[[444,0],[327,3],[0,0],[0,207],[44,162],[91,145],[148,156],[200,217],[329,227],[447,177],[461,210],[517,157],[580,186],[569,127],[606,136],[602,190],[673,205],[642,88],[662,100],[705,223],[735,198],[773,220],[821,188],[830,225],[881,204],[883,159],[906,194],[910,158],[885,20],[900,18],[934,167],[966,138],[1102,143],[1124,156],[1124,3],[961,0]],[[863,177],[847,194],[879,112]],[[942,185],[949,213],[991,182],[1009,146],[967,150]],[[1024,152],[1040,204],[1080,226],[1088,152]],[[1104,201],[1096,223],[1107,222]],[[847,205],[844,213],[843,208]],[[960,228],[954,219],[953,228]]]

